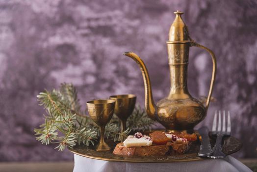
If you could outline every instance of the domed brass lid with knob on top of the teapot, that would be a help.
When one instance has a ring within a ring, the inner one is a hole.
[[[177,10],[174,12],[176,18],[170,27],[169,41],[170,43],[186,43],[190,42],[187,26],[181,18],[183,12]]]

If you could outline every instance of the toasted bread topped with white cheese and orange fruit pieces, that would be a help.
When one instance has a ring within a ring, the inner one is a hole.
[[[170,134],[154,131],[150,133],[150,136],[146,136],[137,132],[133,136],[128,136],[123,143],[118,143],[113,154],[122,156],[183,154],[196,140],[195,134]]]

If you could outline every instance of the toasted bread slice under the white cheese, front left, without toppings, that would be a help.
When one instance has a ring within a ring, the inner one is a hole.
[[[165,155],[167,152],[169,152],[169,146],[167,144],[125,147],[123,143],[118,143],[113,150],[113,154],[122,156],[155,156]]]

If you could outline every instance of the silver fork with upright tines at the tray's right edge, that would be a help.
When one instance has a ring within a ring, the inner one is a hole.
[[[227,113],[227,127],[226,127],[226,113],[223,111],[222,130],[221,130],[221,112],[219,111],[218,116],[218,127],[217,127],[217,111],[215,112],[213,124],[212,124],[212,135],[217,135],[215,146],[213,147],[213,154],[208,156],[209,158],[218,159],[225,158],[226,155],[222,152],[222,138],[223,136],[230,136],[231,134],[231,117],[230,111]]]

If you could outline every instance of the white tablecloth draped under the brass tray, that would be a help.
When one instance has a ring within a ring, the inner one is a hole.
[[[125,163],[95,160],[74,155],[73,172],[252,172],[231,156],[178,163]]]

